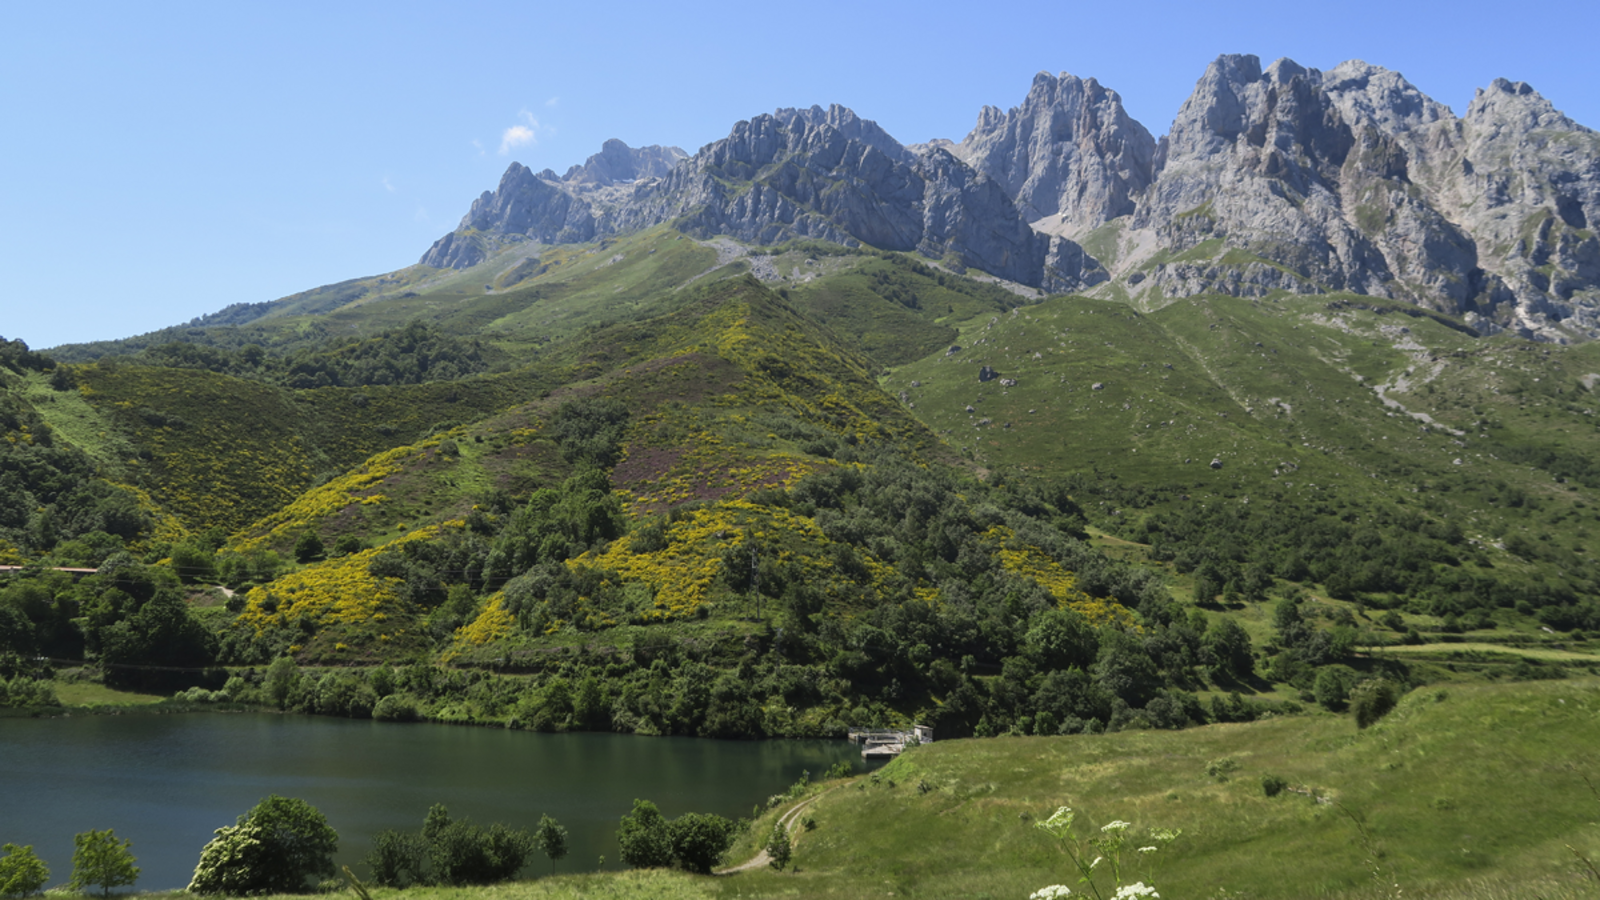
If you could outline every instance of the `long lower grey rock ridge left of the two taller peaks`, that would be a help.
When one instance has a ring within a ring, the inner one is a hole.
[[[707,239],[808,237],[917,251],[1046,290],[1094,283],[1104,274],[1070,240],[1035,234],[998,183],[944,149],[912,154],[840,106],[739,122],[659,176],[645,175],[659,171],[666,157],[653,157],[658,168],[650,170],[640,154],[608,143],[558,181],[514,163],[499,189],[485,192],[422,263],[474,264],[506,235],[565,243],[670,221]]]

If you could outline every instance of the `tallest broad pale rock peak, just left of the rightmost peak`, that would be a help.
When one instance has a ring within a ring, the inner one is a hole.
[[[1488,287],[1472,240],[1411,191],[1395,138],[1440,115],[1362,62],[1323,75],[1293,59],[1262,69],[1256,56],[1219,56],[1163,138],[1134,219],[1163,250],[1216,251],[1155,264],[1146,290],[1349,290],[1472,307]]]

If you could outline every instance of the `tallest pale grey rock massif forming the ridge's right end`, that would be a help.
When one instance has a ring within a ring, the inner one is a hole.
[[[1138,272],[1163,296],[1349,290],[1552,340],[1600,325],[1600,242],[1579,224],[1600,136],[1526,85],[1456,119],[1366,62],[1222,56],[1155,165],[1130,221],[1168,256]]]

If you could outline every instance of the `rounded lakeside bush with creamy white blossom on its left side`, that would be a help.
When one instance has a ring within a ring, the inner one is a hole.
[[[200,850],[190,894],[294,894],[306,879],[338,874],[339,833],[306,801],[272,794],[218,828]]]

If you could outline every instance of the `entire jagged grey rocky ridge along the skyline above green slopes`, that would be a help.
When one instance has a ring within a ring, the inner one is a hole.
[[[1464,115],[1398,72],[1211,62],[1160,139],[1094,78],[1040,74],[960,143],[906,146],[842,106],[778,109],[688,155],[608,141],[563,176],[512,163],[422,263],[674,223],[917,251],[1043,291],[1354,291],[1485,333],[1600,335],[1600,135],[1498,78]]]

